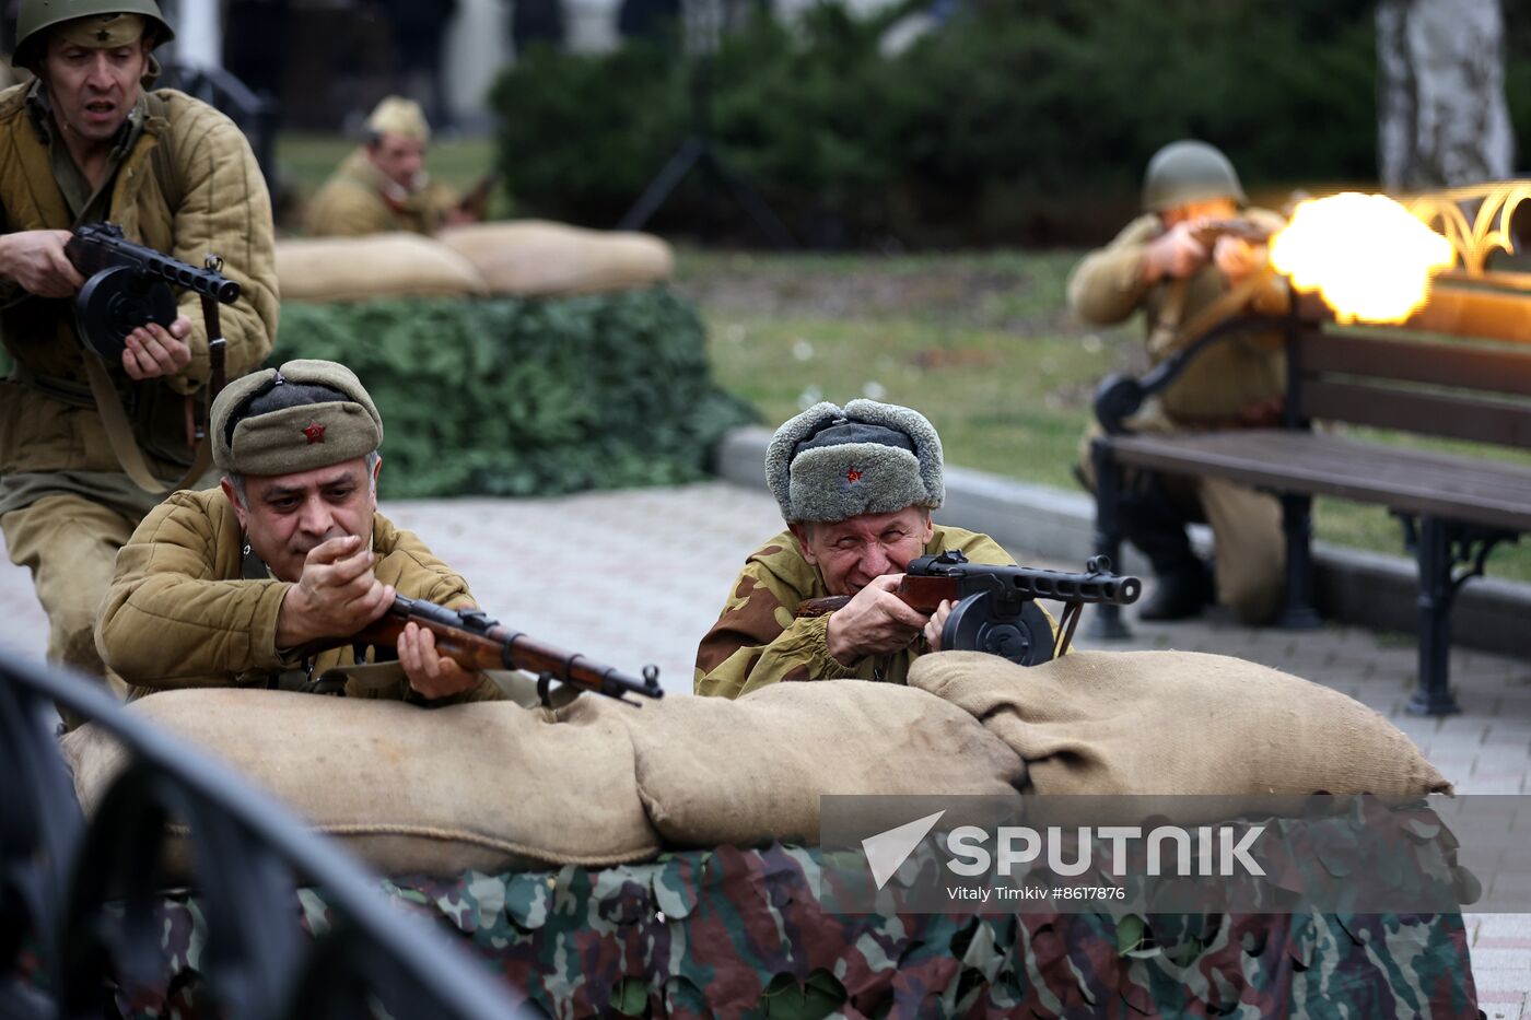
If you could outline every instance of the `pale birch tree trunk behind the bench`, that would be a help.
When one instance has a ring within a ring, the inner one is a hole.
[[[1376,115],[1389,190],[1510,176],[1500,0],[1381,0]]]

